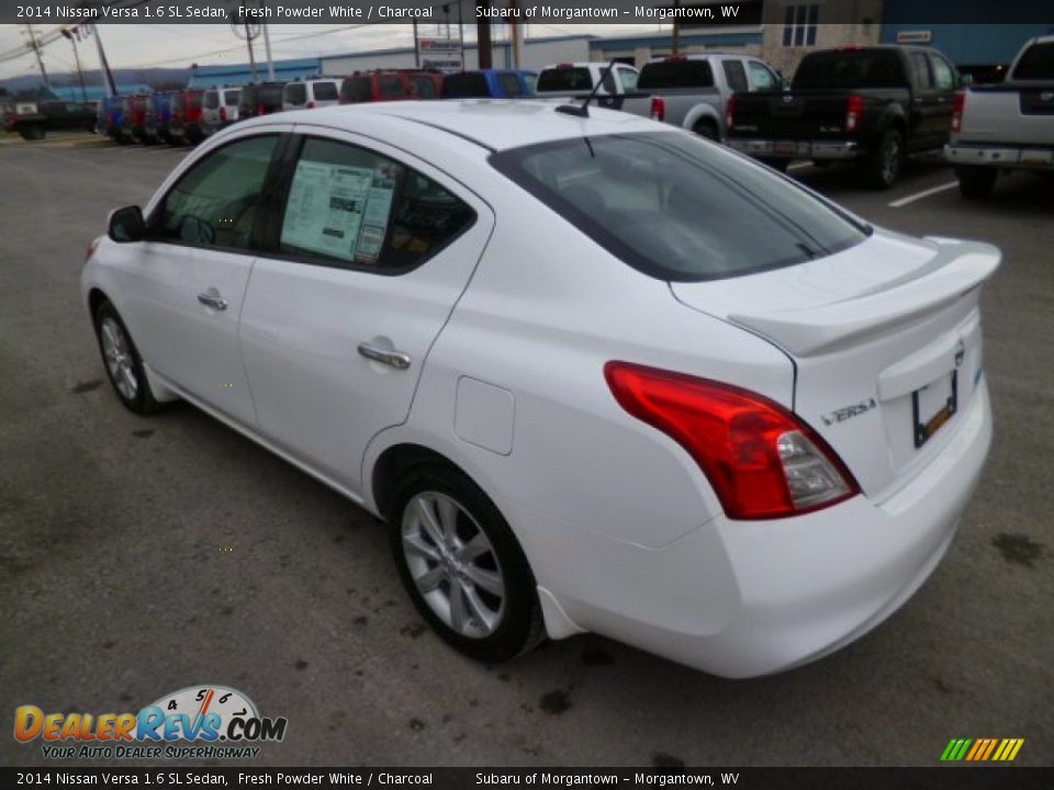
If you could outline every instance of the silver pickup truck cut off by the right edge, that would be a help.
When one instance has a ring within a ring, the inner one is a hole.
[[[985,198],[1000,170],[1054,173],[1054,35],[1028,42],[998,84],[956,94],[944,158],[964,198]]]

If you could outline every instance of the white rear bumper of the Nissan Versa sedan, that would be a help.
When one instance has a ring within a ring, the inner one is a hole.
[[[568,620],[553,630],[596,631],[732,678],[828,655],[882,623],[930,576],[990,442],[983,382],[942,453],[881,504],[857,496],[794,519],[722,517],[658,550],[616,546],[595,532],[572,539],[564,529],[561,552],[584,564],[570,582],[538,574]],[[595,578],[585,580],[590,566]]]

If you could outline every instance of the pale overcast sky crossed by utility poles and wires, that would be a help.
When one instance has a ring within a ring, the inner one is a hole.
[[[41,36],[54,25],[36,25]],[[445,25],[422,24],[419,35],[436,36],[445,32]],[[527,25],[527,35],[541,37],[574,33],[619,35],[642,31],[657,31],[658,24],[648,25]],[[192,63],[235,64],[246,63],[248,54],[245,42],[238,40],[227,24],[101,24],[106,58],[111,68],[147,68],[152,66],[182,68]],[[272,24],[271,45],[276,58],[313,57],[335,53],[365,52],[385,47],[413,45],[413,29],[407,24],[366,25],[305,25]],[[495,33],[504,35],[504,25],[496,25]],[[474,38],[475,25],[466,25],[466,40]],[[457,25],[451,27],[457,37]],[[0,53],[7,53],[27,41],[25,25],[0,25]],[[80,61],[85,70],[99,68],[94,42],[81,42]],[[70,43],[58,40],[42,49],[44,67],[48,74],[75,71],[74,52]],[[257,57],[262,57],[262,40],[257,47]],[[36,58],[27,53],[13,60],[0,63],[0,79],[37,74]]]

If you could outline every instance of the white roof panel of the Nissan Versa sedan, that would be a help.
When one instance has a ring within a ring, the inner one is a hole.
[[[399,119],[441,129],[494,150],[518,148],[586,134],[653,132],[658,128],[670,128],[637,115],[596,106],[590,108],[590,117],[576,117],[557,112],[561,103],[518,99],[377,102],[287,112],[281,116],[268,115],[259,121],[273,124],[281,120],[284,123],[311,123],[351,128],[368,116],[374,116],[378,120]]]

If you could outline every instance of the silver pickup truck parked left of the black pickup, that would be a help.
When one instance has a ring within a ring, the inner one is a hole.
[[[780,90],[783,80],[764,61],[742,54],[706,53],[649,60],[624,112],[663,121],[710,139],[725,139],[729,98]]]

